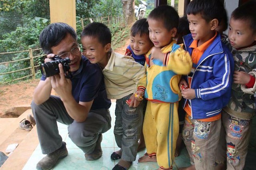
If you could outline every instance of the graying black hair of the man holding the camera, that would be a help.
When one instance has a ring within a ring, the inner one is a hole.
[[[76,31],[66,23],[51,23],[44,28],[39,36],[39,43],[44,53],[52,53],[52,47],[57,46],[68,33],[77,41]]]

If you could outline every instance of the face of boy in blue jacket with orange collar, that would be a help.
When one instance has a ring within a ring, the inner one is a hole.
[[[203,44],[209,39],[212,38],[212,27],[210,22],[206,22],[204,18],[202,18],[201,14],[190,14],[187,15],[189,30],[191,32],[192,38],[194,40],[199,40],[199,44]]]

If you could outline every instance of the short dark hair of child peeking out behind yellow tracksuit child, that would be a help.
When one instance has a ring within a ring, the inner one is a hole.
[[[140,20],[137,20],[131,28],[131,35],[135,37],[137,34],[140,34],[142,36],[143,34],[149,34],[148,31],[148,21],[146,18],[142,18]]]

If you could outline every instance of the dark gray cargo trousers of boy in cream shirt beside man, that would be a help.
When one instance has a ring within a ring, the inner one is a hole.
[[[116,144],[122,150],[121,159],[129,162],[136,160],[138,140],[142,131],[143,109],[146,104],[144,99],[138,107],[129,107],[125,101],[130,99],[131,95],[116,100],[114,126]]]

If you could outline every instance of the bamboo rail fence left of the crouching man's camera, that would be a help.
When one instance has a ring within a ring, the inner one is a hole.
[[[39,58],[39,57],[44,57],[46,55],[36,55],[36,56],[33,56],[33,52],[35,51],[42,51],[42,49],[29,49],[29,50],[25,50],[25,51],[14,51],[14,52],[8,52],[8,53],[0,53],[0,57],[1,55],[4,55],[4,54],[14,54],[14,53],[24,53],[24,52],[28,52],[28,57],[24,58],[24,59],[19,59],[19,60],[15,60],[15,61],[7,61],[7,62],[2,62],[0,63],[1,64],[4,64],[5,66],[8,66],[10,63],[15,63],[15,62],[18,62],[18,61],[26,61],[26,60],[29,60],[30,61],[30,66],[27,67],[27,68],[22,68],[22,69],[19,69],[19,70],[14,70],[14,71],[10,71],[10,72],[4,72],[4,73],[0,73],[0,76],[4,75],[4,74],[11,74],[11,73],[14,73],[14,72],[20,72],[20,71],[24,71],[24,70],[28,70],[30,69],[31,71],[31,74],[29,75],[26,75],[26,76],[23,76],[23,77],[20,77],[20,78],[16,78],[14,80],[11,80],[11,81],[8,81],[8,82],[0,82],[0,84],[6,84],[6,83],[9,83],[9,82],[13,82],[15,80],[20,80],[20,79],[23,79],[23,78],[26,78],[26,77],[32,77],[33,79],[36,78],[36,69],[37,67],[39,67],[40,65],[34,65],[34,59],[36,58]]]

